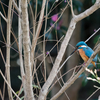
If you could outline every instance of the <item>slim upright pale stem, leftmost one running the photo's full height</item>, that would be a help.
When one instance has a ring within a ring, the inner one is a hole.
[[[7,21],[7,49],[6,49],[6,73],[7,73],[7,81],[9,85],[11,85],[10,80],[10,35],[11,35],[11,8],[12,8],[12,0],[9,0],[9,7],[8,7],[8,21]],[[9,100],[13,100],[12,91],[8,86],[8,95]]]

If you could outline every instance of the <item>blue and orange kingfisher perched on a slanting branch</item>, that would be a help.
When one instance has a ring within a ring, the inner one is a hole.
[[[75,50],[71,53],[71,55],[76,52],[78,50],[81,58],[84,60],[84,62],[86,63],[88,61],[88,59],[91,57],[91,55],[94,53],[94,51],[84,42],[84,41],[80,41],[76,44],[76,48]],[[94,66],[96,66],[96,62],[97,62],[97,55],[95,56],[95,58],[92,60],[92,64]]]

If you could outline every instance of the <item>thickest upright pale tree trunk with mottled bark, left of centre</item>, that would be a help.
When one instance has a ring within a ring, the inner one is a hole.
[[[29,21],[27,12],[27,0],[22,0],[22,34],[24,48],[24,65],[25,65],[25,100],[34,100],[32,89],[32,71],[30,61],[30,37],[29,37]]]

